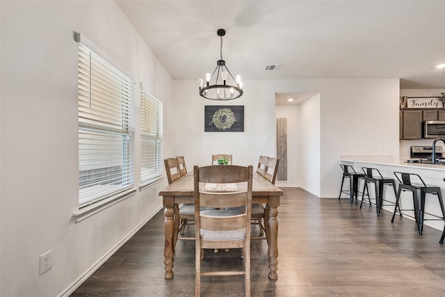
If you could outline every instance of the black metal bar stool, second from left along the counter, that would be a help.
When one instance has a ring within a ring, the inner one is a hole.
[[[368,189],[368,183],[374,184],[375,188],[375,208],[377,209],[377,216],[380,216],[380,209],[382,209],[382,206],[387,205],[394,205],[394,202],[391,202],[389,200],[385,200],[383,198],[383,186],[391,185],[394,189],[394,195],[396,196],[396,179],[390,178],[390,177],[383,177],[380,171],[377,168],[369,168],[369,167],[362,167],[362,170],[364,172],[364,185],[363,185],[363,191],[362,191],[362,203],[360,203],[360,209],[362,208],[363,200],[364,200],[364,191],[366,190],[366,195],[368,195],[369,204],[371,203],[371,198],[369,197],[369,189]],[[383,201],[390,202],[391,204],[383,204]]]

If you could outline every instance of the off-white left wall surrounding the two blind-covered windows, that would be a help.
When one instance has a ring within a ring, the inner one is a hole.
[[[1,296],[69,293],[161,207],[164,181],[75,223],[72,31],[135,80],[136,119],[140,81],[170,112],[172,79],[114,1],[1,1]],[[53,266],[39,276],[39,256],[47,250]]]

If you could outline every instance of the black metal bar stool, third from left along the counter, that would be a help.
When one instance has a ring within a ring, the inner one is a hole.
[[[398,185],[398,192],[396,195],[396,207],[399,207],[398,211],[402,216],[400,209],[400,196],[402,191],[410,191],[412,192],[412,199],[414,202],[414,218],[417,223],[417,229],[419,230],[419,234],[422,234],[423,230],[423,221],[424,220],[445,220],[445,211],[444,211],[444,201],[442,200],[441,188],[439,186],[430,186],[423,182],[423,179],[420,175],[415,173],[406,173],[406,172],[394,172],[400,184]],[[414,181],[414,182],[412,182]],[[426,194],[434,194],[437,195],[439,199],[440,208],[442,211],[442,216],[436,216],[435,214],[429,214],[425,212],[425,198]],[[403,210],[412,210],[412,209],[403,209]],[[394,223],[394,216],[396,216],[397,209],[394,209],[394,214],[392,215],[391,223]],[[433,218],[424,218],[425,214],[428,216],[432,216]],[[442,238],[439,243],[444,243],[444,233],[442,234]]]

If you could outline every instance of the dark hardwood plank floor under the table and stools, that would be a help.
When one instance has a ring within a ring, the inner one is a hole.
[[[420,236],[414,221],[396,216],[391,224],[389,211],[377,217],[369,204],[283,191],[278,280],[268,279],[266,241],[252,241],[252,296],[445,296],[439,230]],[[178,241],[171,280],[163,278],[163,244],[160,211],[72,296],[194,296],[194,242]],[[206,250],[204,266],[234,266],[240,255]],[[243,286],[243,277],[203,278],[202,294],[240,296]]]

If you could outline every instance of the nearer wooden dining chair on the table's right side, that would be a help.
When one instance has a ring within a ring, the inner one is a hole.
[[[280,159],[266,157],[266,165],[264,166],[263,177],[271,184],[275,184],[277,179],[278,165]],[[266,204],[252,204],[252,223],[258,224],[259,236],[252,236],[252,239],[267,239],[268,232],[268,208]]]

